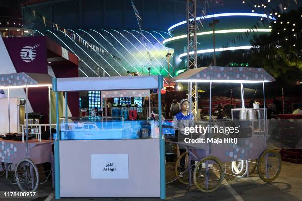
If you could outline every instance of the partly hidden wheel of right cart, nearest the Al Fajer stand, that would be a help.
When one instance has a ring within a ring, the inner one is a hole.
[[[178,180],[186,185],[189,185],[189,154],[182,153],[176,160],[175,176]]]

